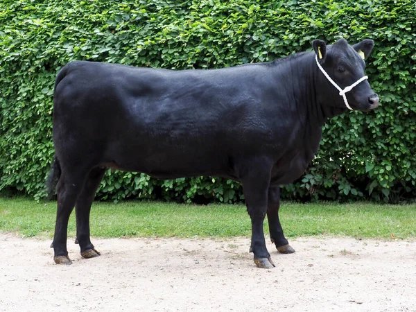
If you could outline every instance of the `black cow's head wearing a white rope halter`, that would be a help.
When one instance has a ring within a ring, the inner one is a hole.
[[[374,41],[366,39],[350,46],[347,40],[340,39],[327,46],[322,40],[313,40],[312,46],[317,60],[315,66],[319,68],[317,92],[320,102],[328,103],[331,99],[331,105],[336,107],[363,111],[379,106],[379,96],[364,76],[364,60],[370,55]]]

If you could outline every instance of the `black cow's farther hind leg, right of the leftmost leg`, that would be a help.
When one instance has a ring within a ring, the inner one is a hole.
[[[93,258],[100,255],[89,237],[89,212],[104,174],[105,168],[92,169],[87,175],[83,191],[76,200],[76,243],[80,244],[81,256],[84,258]]]

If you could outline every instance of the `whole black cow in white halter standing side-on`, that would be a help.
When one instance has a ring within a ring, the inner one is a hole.
[[[49,176],[50,191],[58,184],[55,263],[71,263],[67,225],[74,206],[81,254],[98,256],[89,238],[89,211],[106,168],[161,179],[237,180],[252,221],[254,263],[274,266],[263,234],[266,214],[277,250],[295,252],[279,222],[279,185],[304,173],[328,118],[347,106],[367,111],[379,105],[363,78],[372,40],[312,45],[314,52],[225,69],[64,66],[55,82]]]

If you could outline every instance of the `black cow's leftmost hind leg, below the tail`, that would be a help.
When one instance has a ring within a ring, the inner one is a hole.
[[[68,220],[78,195],[83,187],[85,174],[67,174],[62,171],[57,185],[58,209],[56,211],[55,234],[53,236],[53,260],[55,263],[71,264],[67,250]]]

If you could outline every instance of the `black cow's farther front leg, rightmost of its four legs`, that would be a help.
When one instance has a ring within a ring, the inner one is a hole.
[[[295,250],[289,245],[288,240],[284,237],[283,229],[279,220],[280,207],[280,187],[272,186],[268,189],[268,209],[267,219],[270,230],[270,239],[275,243],[276,248],[282,254],[291,254]]]

